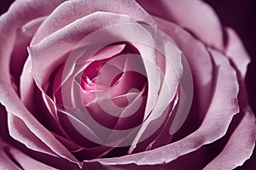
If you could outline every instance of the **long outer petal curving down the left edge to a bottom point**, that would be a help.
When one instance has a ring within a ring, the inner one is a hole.
[[[61,2],[62,1],[54,0],[47,2],[34,2],[29,0],[17,1],[11,6],[8,13],[1,16],[0,30],[2,41],[0,42],[0,103],[6,107],[9,114],[14,114],[15,116],[20,117],[20,119],[25,122],[26,126],[32,130],[32,133],[34,133],[38,139],[44,141],[44,144],[51,143],[49,144],[51,145],[49,147],[52,147],[52,149],[55,148],[56,150],[53,150],[59,152],[62,157],[76,161],[68,150],[65,149],[49,132],[47,132],[47,130],[42,127],[42,125],[40,125],[34,117],[32,117],[31,113],[26,110],[18,95],[15,93],[14,88],[12,88],[11,84],[9,83],[9,61],[15,42],[15,29],[25,25],[32,19],[49,14]],[[10,129],[11,128],[12,127],[10,127]],[[30,142],[33,145],[34,141]]]

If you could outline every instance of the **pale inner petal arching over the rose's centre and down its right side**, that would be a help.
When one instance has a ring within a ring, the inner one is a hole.
[[[85,29],[84,30],[85,32],[90,31],[90,27],[88,26],[91,26],[91,25],[84,26],[84,24],[86,24],[87,22],[93,19],[94,22],[98,20],[99,22],[98,27],[101,28],[102,24],[108,25],[108,23],[102,23],[101,21],[102,17],[104,18],[104,20],[106,20],[107,16],[109,17],[109,20],[108,20],[109,22],[112,22],[114,24],[116,21],[117,23],[119,22],[122,23],[122,25],[113,25],[113,26],[106,27],[106,29],[103,29],[100,31],[100,34],[104,33],[102,34],[102,36],[99,36],[98,31],[95,31],[92,34],[90,34],[88,37],[86,37],[85,39],[86,41],[84,42],[84,44],[86,45],[86,43],[89,43],[89,44],[96,45],[99,42],[100,44],[104,44],[105,42],[113,43],[113,42],[122,42],[127,40],[130,41],[131,44],[135,42],[141,42],[143,44],[146,44],[146,45],[139,45],[135,43],[134,46],[137,47],[138,51],[141,53],[143,57],[143,62],[148,74],[148,81],[151,82],[151,84],[148,86],[148,107],[147,108],[149,109],[146,108],[146,111],[150,112],[150,108],[154,106],[154,103],[152,103],[152,101],[155,102],[154,96],[157,96],[157,92],[160,88],[160,81],[159,81],[160,71],[157,71],[158,70],[157,67],[152,67],[152,65],[154,65],[154,63],[156,62],[154,42],[152,41],[152,37],[149,34],[148,30],[144,29],[142,26],[133,24],[134,21],[132,21],[131,18],[124,15],[106,14],[106,13],[100,13],[100,12],[95,14],[90,14],[81,20],[77,20],[73,22],[70,26],[67,26],[62,30],[51,34],[49,37],[47,37],[43,41],[29,48],[30,54],[32,55],[32,62],[34,61],[34,63],[32,64],[32,66],[34,66],[34,69],[32,68],[32,72],[38,84],[38,87],[42,87],[42,85],[44,85],[44,82],[46,82],[46,80],[49,78],[50,72],[53,70],[53,68],[55,68],[57,63],[61,62],[60,59],[57,59],[55,56],[62,57],[62,54],[67,53],[67,51],[69,50],[68,48],[73,48],[74,44],[78,43],[81,40],[81,38],[84,37],[84,32],[81,31],[81,27],[82,29]],[[85,23],[83,23],[83,21]],[[129,22],[132,24],[131,25],[127,24]],[[92,28],[93,30],[96,29],[95,26],[92,26]],[[113,29],[110,29],[110,28],[113,28]],[[74,31],[74,30],[79,30],[79,31]],[[131,30],[134,30],[133,32],[137,32],[137,33],[131,34]],[[79,36],[80,34],[83,34],[83,37]],[[95,34],[96,34],[96,37],[95,37]],[[66,38],[67,35],[69,37],[73,37],[73,39],[71,40],[69,38]],[[113,35],[115,35],[115,37],[113,37]],[[92,43],[92,42],[96,42],[96,43]],[[48,50],[44,50],[44,48],[47,48]],[[88,56],[90,56],[90,53]],[[80,57],[81,55],[75,55],[76,58],[78,56]],[[48,62],[46,63],[45,60],[48,60]],[[68,60],[67,62],[70,63]]]

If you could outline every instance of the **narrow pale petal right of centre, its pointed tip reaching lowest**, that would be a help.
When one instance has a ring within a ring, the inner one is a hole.
[[[165,118],[162,116],[162,113],[169,110],[167,107],[170,107],[172,99],[174,99],[177,93],[177,86],[183,74],[183,66],[181,63],[182,54],[181,51],[177,48],[177,46],[172,42],[172,39],[163,32],[157,31],[156,43],[156,49],[158,50],[159,53],[159,63],[156,65],[150,65],[150,63],[148,63],[148,68],[155,68],[158,71],[159,75],[163,77],[159,91],[159,97],[156,101],[156,104],[154,105],[153,111],[150,113],[149,116],[147,112],[147,104],[145,115],[148,117],[145,120],[145,122],[143,122],[143,126],[140,129],[140,131],[137,133],[137,137],[136,139],[134,139],[133,144],[131,145],[131,149],[129,150],[130,153],[137,147],[138,141],[142,140],[141,138],[144,136],[143,134],[147,134],[146,136],[151,136],[151,134],[155,132],[155,129],[157,129],[156,125],[160,126],[163,123]],[[165,62],[161,62],[160,59],[162,61],[164,60]],[[145,65],[145,68],[147,70],[147,65]],[[150,73],[149,69],[147,71],[147,74],[148,73]],[[150,77],[151,75],[149,74],[149,87],[151,83],[154,84],[154,82],[150,82]],[[152,107],[152,105],[150,105],[149,108],[150,107]],[[166,113],[163,115],[166,115]]]

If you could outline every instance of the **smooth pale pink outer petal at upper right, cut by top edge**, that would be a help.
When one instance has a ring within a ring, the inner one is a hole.
[[[137,0],[149,14],[189,29],[203,42],[224,49],[221,24],[213,9],[199,0]]]

